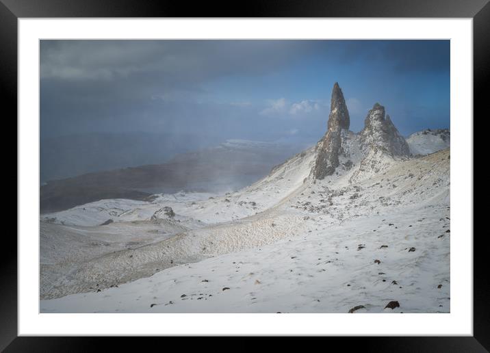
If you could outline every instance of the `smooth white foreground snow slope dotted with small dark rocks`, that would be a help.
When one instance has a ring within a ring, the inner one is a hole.
[[[42,300],[41,311],[347,313],[362,306],[356,313],[448,313],[448,217],[445,207],[428,207],[328,228],[315,218],[309,231],[275,244],[179,265],[118,288]],[[391,301],[400,307],[384,309]]]

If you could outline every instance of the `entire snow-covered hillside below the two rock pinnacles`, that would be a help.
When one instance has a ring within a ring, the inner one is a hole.
[[[226,195],[43,215],[40,311],[449,312],[449,150],[352,151],[322,181],[313,160],[310,148]]]

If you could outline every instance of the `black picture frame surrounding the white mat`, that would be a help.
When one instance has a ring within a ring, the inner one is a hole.
[[[233,5],[231,1],[201,1],[191,5],[185,1],[169,0],[0,0],[0,96],[4,126],[6,122],[14,125],[14,116],[17,116],[17,20],[29,17],[473,18],[474,116],[480,116],[482,119],[488,116],[485,99],[490,81],[488,0],[248,0],[242,5]],[[473,119],[472,116],[465,118]],[[13,129],[17,131],[16,123]],[[10,149],[4,148],[3,151]],[[17,172],[16,177],[18,178]],[[11,179],[13,177],[8,177],[4,183],[13,183]],[[488,352],[490,276],[487,273],[487,236],[486,233],[475,233],[474,236],[473,337],[344,337],[340,343],[344,345],[348,341],[348,348],[359,348],[364,352]],[[87,352],[102,348],[101,339],[93,337],[17,337],[17,241],[13,232],[4,232],[3,241],[3,254],[0,257],[0,350]],[[106,343],[111,345],[112,350],[127,348],[126,339],[103,340],[109,341]]]

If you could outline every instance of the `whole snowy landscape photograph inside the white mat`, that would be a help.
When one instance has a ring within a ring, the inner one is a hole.
[[[450,88],[450,40],[40,40],[40,313],[450,313]]]

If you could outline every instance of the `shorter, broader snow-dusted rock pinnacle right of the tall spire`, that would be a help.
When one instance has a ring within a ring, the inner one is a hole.
[[[375,103],[364,120],[364,129],[359,133],[361,149],[368,153],[372,148],[380,148],[390,155],[409,155],[410,148],[393,122],[387,115],[385,107]]]

